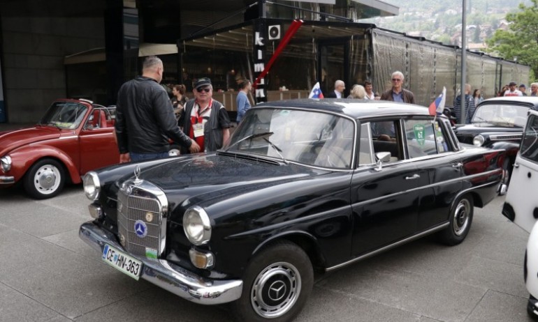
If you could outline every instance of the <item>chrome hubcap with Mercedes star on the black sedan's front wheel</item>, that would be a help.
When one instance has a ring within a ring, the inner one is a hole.
[[[300,294],[301,279],[297,268],[290,263],[274,263],[254,279],[251,303],[254,311],[266,319],[288,312]]]

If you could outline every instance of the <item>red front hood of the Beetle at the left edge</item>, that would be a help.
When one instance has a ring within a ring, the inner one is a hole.
[[[0,132],[0,156],[19,146],[56,139],[60,136],[57,128],[36,125],[33,128]]]

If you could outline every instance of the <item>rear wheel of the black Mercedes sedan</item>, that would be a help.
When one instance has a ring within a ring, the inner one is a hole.
[[[439,232],[439,239],[446,245],[458,245],[463,242],[471,229],[474,202],[470,194],[460,197],[454,204],[449,217],[449,227]]]

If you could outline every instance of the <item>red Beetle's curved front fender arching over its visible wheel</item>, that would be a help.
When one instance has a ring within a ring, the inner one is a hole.
[[[81,182],[77,165],[68,154],[61,151],[59,148],[46,145],[22,146],[21,148],[11,151],[9,155],[13,162],[9,173],[15,177],[15,181],[20,181],[32,164],[36,163],[38,160],[52,158],[64,164],[73,183]]]

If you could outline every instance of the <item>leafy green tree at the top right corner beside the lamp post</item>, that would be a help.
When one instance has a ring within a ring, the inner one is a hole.
[[[538,75],[538,0],[531,0],[531,6],[519,4],[519,12],[508,13],[508,30],[497,29],[488,40],[488,52],[504,59],[517,60],[529,65],[534,75]]]

